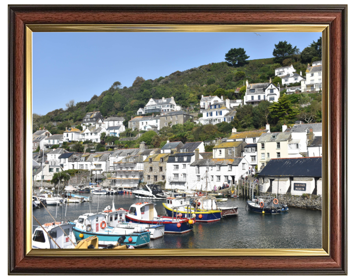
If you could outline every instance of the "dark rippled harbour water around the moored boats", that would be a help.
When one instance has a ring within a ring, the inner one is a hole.
[[[92,202],[72,203],[56,206],[48,205],[47,210],[57,221],[78,219],[84,213],[102,211],[108,205],[112,207],[112,195],[94,195]],[[115,207],[128,210],[129,207],[143,200],[133,194],[115,195]],[[162,206],[165,200],[154,200],[158,215],[166,215]],[[185,234],[165,234],[163,238],[152,240],[144,248],[321,248],[322,247],[322,212],[289,208],[286,213],[271,215],[259,214],[246,210],[243,198],[228,198],[226,202],[217,202],[218,206],[237,206],[238,216],[224,218],[214,223],[195,223],[193,231]],[[48,212],[41,207],[33,210],[40,223],[53,222]],[[34,220],[33,225],[38,225]],[[35,227],[33,227],[34,229]]]

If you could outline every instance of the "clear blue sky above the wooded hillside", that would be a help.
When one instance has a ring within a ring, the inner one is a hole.
[[[231,48],[249,59],[273,57],[274,44],[287,41],[302,51],[321,33],[33,33],[33,112],[89,101],[119,81],[156,79],[224,61]]]

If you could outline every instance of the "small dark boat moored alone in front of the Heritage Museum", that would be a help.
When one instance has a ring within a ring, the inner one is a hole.
[[[250,211],[262,214],[280,214],[289,210],[288,205],[280,204],[273,196],[256,196],[246,201],[246,205]]]

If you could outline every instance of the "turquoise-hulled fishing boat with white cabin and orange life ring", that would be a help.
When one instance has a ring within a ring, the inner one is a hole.
[[[145,228],[110,227],[109,225],[121,222],[119,214],[119,212],[112,211],[108,214],[100,212],[80,215],[76,226],[73,227],[77,241],[96,235],[98,236],[98,244],[100,246],[116,245],[120,237],[127,239],[127,242],[125,242],[126,245],[133,245],[134,247],[149,244],[150,231],[147,231]]]

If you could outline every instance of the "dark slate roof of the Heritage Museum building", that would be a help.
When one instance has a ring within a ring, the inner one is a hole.
[[[322,177],[322,157],[274,158],[259,176]]]

